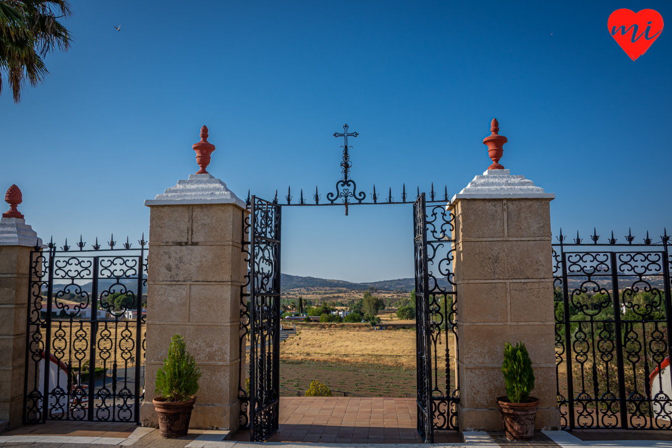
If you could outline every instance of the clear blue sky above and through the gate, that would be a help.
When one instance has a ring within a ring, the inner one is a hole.
[[[672,49],[633,62],[607,32],[630,2],[72,1],[75,42],[46,83],[0,97],[0,187],[21,187],[40,236],[138,240],[144,199],[198,167],[240,197],[340,177],[344,122],[358,187],[433,181],[456,193],[501,163],[556,193],[552,226],[603,238],[672,231]],[[121,26],[117,32],[114,26]],[[550,35],[552,33],[552,36]],[[583,235],[582,235],[583,236]],[[413,275],[411,206],[285,208],[282,271],[350,281]]]

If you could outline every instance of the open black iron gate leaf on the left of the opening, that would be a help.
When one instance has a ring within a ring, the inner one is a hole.
[[[251,197],[250,387],[252,441],[278,431],[280,416],[280,220],[278,204]]]

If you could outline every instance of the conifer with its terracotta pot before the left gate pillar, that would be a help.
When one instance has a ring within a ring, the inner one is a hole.
[[[155,384],[156,393],[161,394],[153,400],[159,414],[161,437],[173,439],[187,435],[200,377],[201,369],[187,352],[184,338],[175,334],[171,338],[168,357],[163,360],[163,368],[157,371]]]

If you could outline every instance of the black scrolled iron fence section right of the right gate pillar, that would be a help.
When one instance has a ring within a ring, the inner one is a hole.
[[[554,244],[562,427],[672,429],[669,236],[591,239]]]

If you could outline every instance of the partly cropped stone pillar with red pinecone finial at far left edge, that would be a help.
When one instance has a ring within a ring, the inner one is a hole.
[[[16,208],[19,187],[9,187],[5,201],[11,207],[0,219],[0,433],[22,423],[30,251],[42,246]]]

